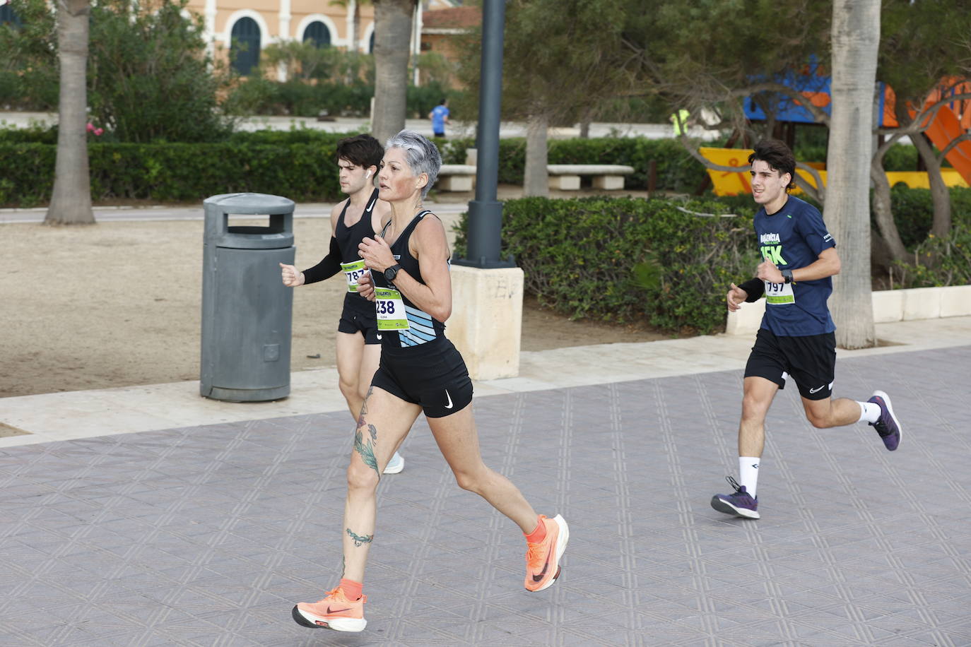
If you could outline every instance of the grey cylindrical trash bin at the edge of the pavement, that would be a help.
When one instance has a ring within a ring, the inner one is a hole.
[[[229,193],[203,203],[200,393],[262,402],[290,393],[293,290],[279,263],[293,264],[293,201]],[[268,215],[269,226],[229,226],[229,215]]]

